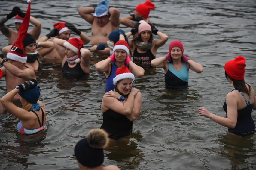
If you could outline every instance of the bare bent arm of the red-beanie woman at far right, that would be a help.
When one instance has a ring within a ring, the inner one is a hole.
[[[225,126],[228,128],[235,128],[237,123],[237,104],[238,104],[236,96],[232,93],[227,94],[226,103],[227,103],[227,118],[210,113],[204,107],[200,107],[198,109],[198,112],[200,116],[205,116],[207,118],[210,118],[214,122],[222,126]]]

